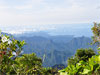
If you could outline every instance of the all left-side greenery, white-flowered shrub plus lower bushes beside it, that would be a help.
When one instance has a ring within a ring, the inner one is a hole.
[[[0,75],[54,75],[56,69],[42,67],[41,58],[34,53],[23,54],[25,41],[0,36]]]

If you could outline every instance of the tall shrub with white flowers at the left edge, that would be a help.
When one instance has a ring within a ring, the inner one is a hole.
[[[1,73],[10,73],[13,70],[12,64],[16,63],[14,57],[20,55],[24,44],[24,41],[18,41],[6,35],[0,36]]]

